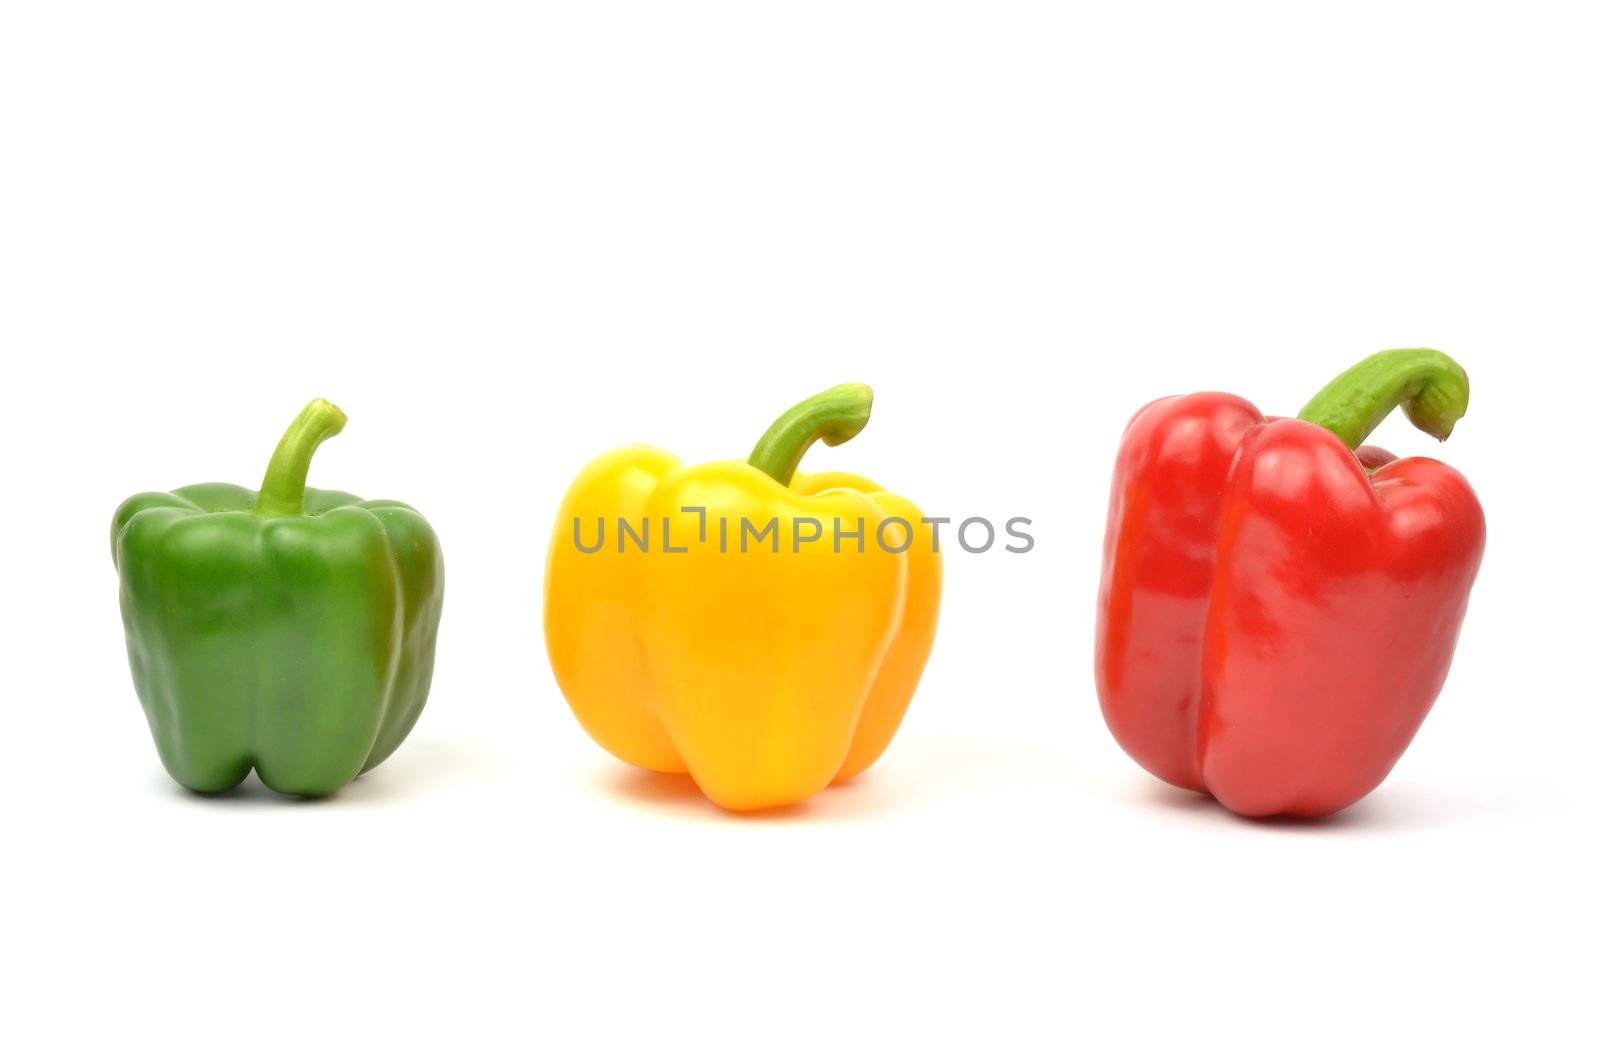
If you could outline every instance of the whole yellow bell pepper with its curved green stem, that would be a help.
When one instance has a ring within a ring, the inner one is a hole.
[[[798,802],[883,753],[933,647],[941,557],[910,501],[795,471],[870,408],[870,389],[838,386],[779,416],[749,461],[635,445],[578,476],[544,636],[602,748],[688,773],[730,810]]]

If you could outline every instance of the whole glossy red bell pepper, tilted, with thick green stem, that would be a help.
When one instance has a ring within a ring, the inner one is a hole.
[[[1397,405],[1443,440],[1467,376],[1437,351],[1387,351],[1298,420],[1189,394],[1128,424],[1094,671],[1106,724],[1144,769],[1246,817],[1322,817],[1410,745],[1485,530],[1461,474],[1360,447]]]

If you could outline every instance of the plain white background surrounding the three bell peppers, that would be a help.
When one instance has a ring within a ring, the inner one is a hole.
[[[1202,11],[1203,8],[1203,11]],[[1571,1055],[1594,1047],[1597,34],[1539,3],[13,3],[0,1044],[218,1055]],[[1490,543],[1390,780],[1261,825],[1094,701],[1144,400],[1472,373]],[[851,468],[1035,520],[947,556],[899,738],[789,815],[606,757],[539,631],[571,476],[877,389]],[[125,495],[314,485],[438,530],[434,695],[315,804],[162,772]],[[1589,1054],[1592,1055],[1592,1054]]]

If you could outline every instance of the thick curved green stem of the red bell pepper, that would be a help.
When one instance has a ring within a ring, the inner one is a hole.
[[[1467,415],[1467,373],[1437,349],[1386,349],[1322,387],[1299,420],[1355,448],[1398,405],[1418,429],[1443,442]]]

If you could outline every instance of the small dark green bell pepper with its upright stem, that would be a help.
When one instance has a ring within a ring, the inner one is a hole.
[[[112,520],[133,684],[173,780],[325,796],[389,757],[427,700],[438,538],[400,501],[306,488],[344,428],[314,400],[261,492],[139,493]]]

